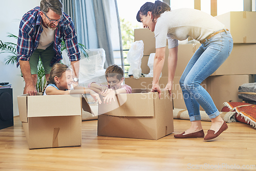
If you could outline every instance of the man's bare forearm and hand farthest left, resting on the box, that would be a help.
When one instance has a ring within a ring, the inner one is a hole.
[[[28,60],[19,60],[20,70],[22,71],[24,81],[26,83],[24,93],[29,94],[30,96],[36,95],[37,91],[35,88],[35,83],[33,81],[30,65]]]

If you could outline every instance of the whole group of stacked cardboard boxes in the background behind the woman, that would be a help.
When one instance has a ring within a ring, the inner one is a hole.
[[[253,74],[256,74],[256,33],[254,31],[256,12],[228,12],[216,16],[221,23],[230,31],[233,37],[233,50],[223,65],[202,82],[214,100],[217,109],[221,111],[223,103],[227,101],[242,101],[238,98],[238,88],[244,83],[254,82]],[[148,29],[135,29],[135,41],[143,40],[144,56],[141,62],[142,73],[147,74],[147,60],[150,53],[155,53],[154,33]],[[196,50],[201,44],[185,44],[178,47],[178,63],[173,82],[174,108],[186,109],[182,91],[179,86],[180,77]],[[168,47],[166,47],[166,60]],[[160,87],[164,88],[167,83],[167,61],[165,61]],[[151,88],[152,78],[125,78],[125,83],[132,88]],[[201,108],[201,110],[203,110]]]

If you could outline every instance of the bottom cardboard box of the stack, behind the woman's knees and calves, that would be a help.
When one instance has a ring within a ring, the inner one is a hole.
[[[186,105],[183,99],[182,91],[179,86],[180,77],[174,77],[173,82],[173,101],[174,108],[186,109]],[[201,86],[206,89],[210,94],[212,100],[219,111],[224,107],[224,102],[234,101],[242,102],[242,99],[238,98],[238,88],[244,83],[253,82],[252,75],[219,75],[209,76],[202,83]],[[200,106],[200,110],[203,108]]]

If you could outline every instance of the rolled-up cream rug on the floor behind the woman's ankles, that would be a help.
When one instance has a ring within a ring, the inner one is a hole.
[[[189,120],[189,115],[186,109],[175,108],[173,110],[173,113],[174,113],[174,119]],[[220,112],[220,116],[227,123],[236,122],[236,119],[234,118],[235,113],[236,112]],[[205,111],[200,111],[200,115],[201,115],[202,121],[210,121],[210,118],[208,117]]]

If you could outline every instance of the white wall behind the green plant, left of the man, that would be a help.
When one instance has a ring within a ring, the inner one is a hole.
[[[16,39],[7,37],[7,32],[18,35],[19,22],[22,16],[40,6],[40,0],[9,0],[1,1],[0,7],[0,39],[3,42],[11,41],[17,43]],[[19,67],[16,65],[5,65],[8,53],[0,54],[0,82],[9,82],[13,90],[13,115],[18,115],[17,96],[23,94],[25,82],[20,76]]]

